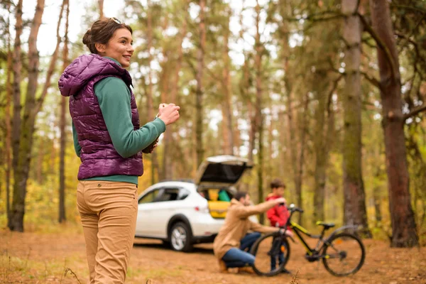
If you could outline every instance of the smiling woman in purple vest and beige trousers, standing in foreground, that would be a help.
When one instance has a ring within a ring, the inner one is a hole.
[[[70,97],[74,146],[82,164],[77,207],[86,240],[90,283],[124,283],[133,246],[142,151],[150,153],[179,107],[158,108],[158,117],[139,128],[131,77],[124,68],[133,54],[132,29],[117,18],[94,22],[81,55],[59,80]],[[153,143],[152,148],[148,147]],[[146,151],[149,148],[149,151]]]

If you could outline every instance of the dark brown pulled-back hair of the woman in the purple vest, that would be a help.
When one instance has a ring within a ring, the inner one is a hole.
[[[107,44],[119,28],[127,28],[130,33],[133,33],[130,26],[125,23],[117,23],[117,21],[115,18],[102,18],[94,22],[92,28],[87,30],[83,37],[83,43],[87,45],[91,53],[99,53],[94,44]]]

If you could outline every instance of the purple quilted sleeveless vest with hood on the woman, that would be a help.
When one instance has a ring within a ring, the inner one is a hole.
[[[82,55],[65,69],[59,80],[60,93],[70,97],[70,114],[82,147],[78,179],[107,175],[142,175],[142,152],[123,158],[115,150],[102,117],[94,84],[105,77],[119,77],[130,89],[129,72],[97,54]],[[130,89],[131,92],[131,89]],[[131,122],[139,128],[138,109],[131,92]]]

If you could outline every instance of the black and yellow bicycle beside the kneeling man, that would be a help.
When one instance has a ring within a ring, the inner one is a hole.
[[[317,222],[317,225],[323,226],[323,229],[320,235],[313,235],[307,229],[291,221],[293,213],[303,213],[303,209],[290,204],[288,210],[290,211],[290,217],[287,223],[281,227],[280,231],[261,236],[251,248],[250,253],[256,256],[253,270],[258,275],[277,275],[285,267],[285,264],[290,258],[288,238],[295,242],[293,238],[285,235],[288,227],[293,229],[295,236],[305,246],[305,258],[307,261],[315,262],[322,260],[325,269],[335,276],[345,276],[359,271],[364,264],[364,245],[358,236],[345,232],[348,229],[358,229],[358,226],[342,226],[323,239],[325,231],[334,227],[333,223]],[[311,239],[318,239],[314,249],[310,248],[301,233]],[[278,266],[276,265],[277,263]],[[339,271],[339,268],[342,268],[342,271]],[[344,270],[345,268],[348,268],[348,270]]]

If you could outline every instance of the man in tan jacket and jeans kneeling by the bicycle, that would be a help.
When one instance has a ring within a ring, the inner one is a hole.
[[[225,223],[213,243],[214,255],[219,260],[221,272],[226,272],[228,268],[254,265],[256,257],[247,251],[250,251],[261,236],[259,233],[274,232],[279,228],[251,222],[249,217],[266,212],[280,203],[285,203],[283,197],[250,206],[250,195],[247,192],[236,192],[226,213]],[[247,234],[249,230],[258,233]]]

